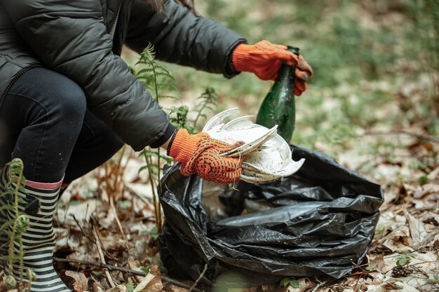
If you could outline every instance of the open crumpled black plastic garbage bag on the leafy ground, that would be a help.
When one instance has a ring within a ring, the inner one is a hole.
[[[205,284],[228,274],[231,284],[257,286],[284,277],[338,279],[362,262],[381,187],[323,153],[291,148],[294,160],[306,159],[299,172],[276,183],[241,182],[238,190],[184,177],[180,164],[166,170],[159,248],[169,274],[195,280],[207,264]],[[203,192],[223,208],[205,204]]]

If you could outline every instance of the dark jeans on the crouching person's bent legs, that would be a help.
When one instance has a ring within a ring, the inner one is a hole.
[[[18,78],[0,108],[0,167],[21,158],[31,181],[53,183],[65,174],[70,183],[122,146],[88,111],[79,85],[48,69],[34,68]]]

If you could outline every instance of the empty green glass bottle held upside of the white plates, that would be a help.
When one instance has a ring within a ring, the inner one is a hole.
[[[299,48],[288,46],[288,50],[299,55]],[[278,125],[278,134],[288,143],[290,143],[292,132],[295,130],[296,122],[295,69],[295,66],[287,64],[281,66],[278,78],[264,98],[256,116],[258,125],[269,128]]]

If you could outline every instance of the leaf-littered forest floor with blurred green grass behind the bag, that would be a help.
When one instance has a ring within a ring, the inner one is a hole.
[[[292,144],[326,153],[384,190],[374,239],[352,274],[229,291],[439,291],[439,10],[428,6],[435,1],[198,2],[203,15],[249,43],[301,48],[314,76],[296,99]],[[123,57],[133,65],[138,55]],[[252,74],[227,80],[169,66],[190,109],[215,88],[219,106],[208,118],[233,107],[254,115],[271,85]],[[207,291],[162,267],[151,183],[137,154],[126,146],[67,188],[55,218],[56,269],[78,292]]]

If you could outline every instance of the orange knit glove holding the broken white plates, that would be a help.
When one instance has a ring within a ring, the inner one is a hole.
[[[219,154],[243,145],[238,141],[233,145],[211,139],[208,133],[189,134],[178,130],[171,141],[168,155],[182,162],[180,171],[184,176],[198,174],[201,179],[215,183],[232,183],[241,176],[243,158],[224,158]]]

